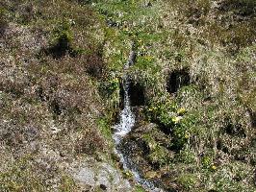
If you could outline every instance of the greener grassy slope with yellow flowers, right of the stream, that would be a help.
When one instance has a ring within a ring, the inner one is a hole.
[[[172,131],[174,157],[163,163],[162,151],[147,155],[161,162],[157,177],[170,167],[175,177],[169,181],[180,191],[255,190],[254,1],[148,2],[94,6],[115,36],[136,41],[139,57],[130,73],[144,87],[147,121]],[[105,57],[118,75],[123,55]],[[181,69],[191,83],[167,93],[169,74]]]

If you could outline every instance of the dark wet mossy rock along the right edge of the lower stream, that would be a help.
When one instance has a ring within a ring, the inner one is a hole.
[[[171,188],[162,175],[165,160],[174,158],[170,148],[170,138],[153,123],[140,122],[132,132],[121,141],[119,150],[128,159],[128,168],[138,170],[142,179],[149,180],[156,187],[163,189]],[[166,161],[167,162],[167,161]]]

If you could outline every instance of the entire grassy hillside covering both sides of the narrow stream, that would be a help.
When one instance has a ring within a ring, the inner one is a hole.
[[[161,145],[147,155],[161,164],[157,177],[171,168],[168,182],[179,191],[255,190],[254,2],[216,3],[95,1],[116,26],[105,29],[75,1],[2,1],[0,190],[72,191],[66,163],[109,152],[108,119],[131,41],[146,121],[173,131],[174,156],[163,160]],[[169,94],[166,80],[180,69],[189,69],[191,84]]]

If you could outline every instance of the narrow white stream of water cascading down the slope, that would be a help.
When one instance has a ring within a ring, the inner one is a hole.
[[[134,53],[131,53],[131,55]],[[131,58],[131,57],[130,57]],[[131,65],[131,60],[125,64],[124,69],[128,69]],[[123,169],[126,171],[131,171],[133,173],[134,179],[141,184],[141,186],[150,192],[162,192],[163,190],[158,189],[148,180],[141,178],[140,172],[136,165],[129,159],[129,156],[124,156],[121,150],[118,149],[118,145],[121,142],[122,138],[132,131],[136,120],[135,114],[132,111],[130,106],[130,97],[129,97],[129,87],[130,87],[130,78],[129,75],[125,74],[123,77],[123,89],[124,89],[124,108],[120,111],[120,122],[115,125],[115,133],[113,138],[115,140],[115,153],[120,158],[120,162],[123,164]],[[129,149],[127,149],[129,150]]]

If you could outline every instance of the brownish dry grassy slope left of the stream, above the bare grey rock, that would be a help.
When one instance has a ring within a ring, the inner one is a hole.
[[[79,191],[70,163],[111,146],[104,25],[65,0],[4,0],[0,16],[0,191]]]

